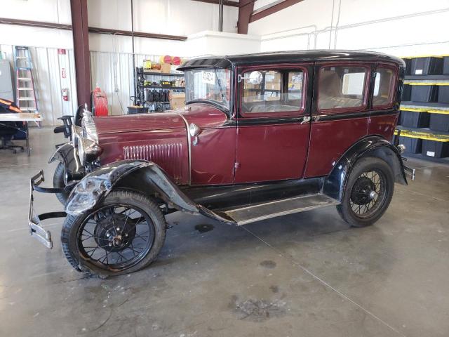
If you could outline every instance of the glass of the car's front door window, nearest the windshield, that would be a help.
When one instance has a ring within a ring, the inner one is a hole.
[[[246,72],[243,74],[241,112],[243,114],[299,112],[302,110],[303,86],[302,70]]]

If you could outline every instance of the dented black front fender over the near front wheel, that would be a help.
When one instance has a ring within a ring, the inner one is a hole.
[[[94,209],[114,187],[133,188],[149,195],[157,194],[180,211],[199,211],[196,204],[152,161],[122,160],[101,166],[76,184],[67,200],[66,212],[79,215]]]

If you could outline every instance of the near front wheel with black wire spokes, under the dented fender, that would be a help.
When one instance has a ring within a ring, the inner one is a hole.
[[[159,206],[142,193],[116,190],[97,209],[67,216],[62,250],[79,271],[121,275],[152,263],[166,237]]]

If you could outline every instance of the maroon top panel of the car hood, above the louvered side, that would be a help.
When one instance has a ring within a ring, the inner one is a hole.
[[[147,130],[185,128],[185,121],[177,112],[127,114],[124,116],[95,117],[98,136],[111,133],[129,133]]]

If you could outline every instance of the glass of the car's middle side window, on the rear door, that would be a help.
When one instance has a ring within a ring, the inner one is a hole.
[[[322,67],[318,109],[362,107],[368,70],[365,67]]]

